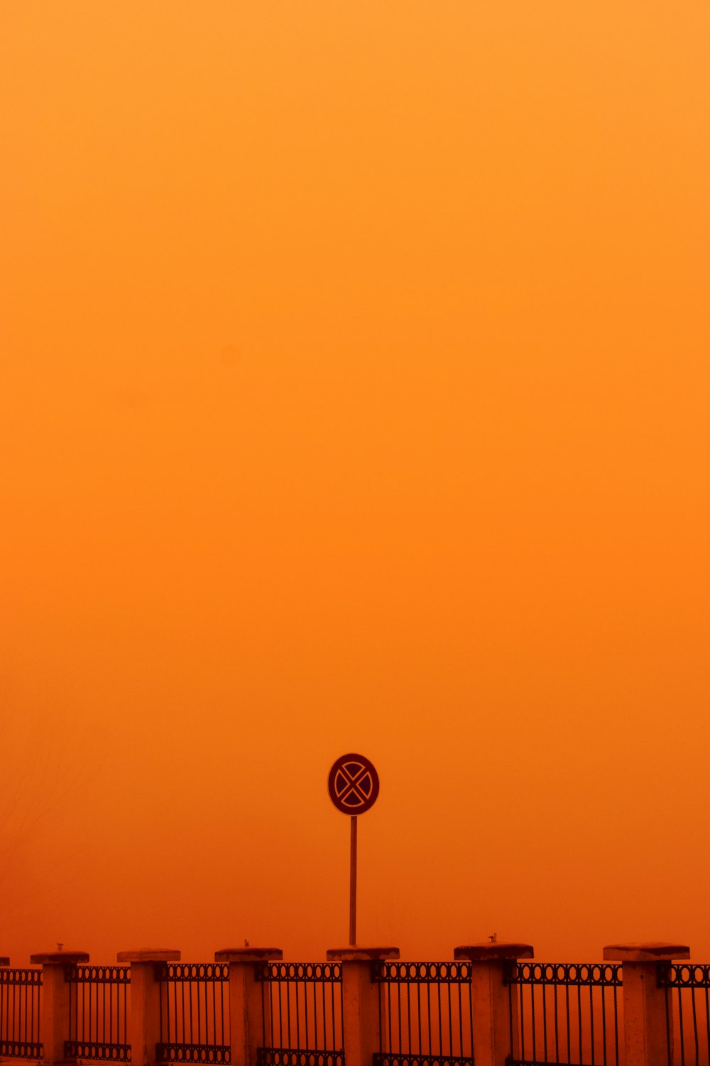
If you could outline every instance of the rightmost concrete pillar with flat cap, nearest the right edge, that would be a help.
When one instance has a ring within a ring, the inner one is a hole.
[[[624,964],[624,1045],[626,1066],[668,1066],[673,1061],[673,1012],[659,983],[675,958],[690,958],[682,943],[612,943],[605,962]],[[671,1054],[668,1055],[668,1044]]]

